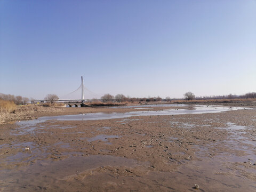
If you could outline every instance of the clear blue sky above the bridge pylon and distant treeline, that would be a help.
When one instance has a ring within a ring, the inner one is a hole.
[[[256,1],[0,1],[0,93],[256,91]]]

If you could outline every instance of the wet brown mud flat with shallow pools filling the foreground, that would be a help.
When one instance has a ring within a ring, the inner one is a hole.
[[[256,191],[255,106],[36,116],[0,126],[0,191]]]

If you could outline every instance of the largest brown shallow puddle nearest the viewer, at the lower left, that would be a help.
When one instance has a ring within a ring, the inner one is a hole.
[[[56,179],[67,179],[71,175],[77,175],[101,166],[135,167],[145,164],[147,163],[110,155],[70,156],[60,161],[51,161],[50,159],[37,161],[29,166],[23,166],[19,170],[0,170],[0,180],[1,183],[9,183],[8,187],[11,187],[11,183],[13,183],[11,181],[17,180],[23,185],[35,185],[37,183],[36,186],[40,186],[42,181],[52,183]],[[33,182],[31,183],[31,181]]]

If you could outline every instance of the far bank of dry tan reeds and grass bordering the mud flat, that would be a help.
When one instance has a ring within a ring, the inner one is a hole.
[[[110,105],[111,104],[111,105]],[[29,119],[35,119],[41,116],[58,116],[58,115],[71,115],[71,114],[79,114],[79,113],[98,113],[99,111],[116,111],[118,110],[120,113],[123,111],[129,111],[129,109],[111,109],[108,107],[111,106],[149,106],[149,105],[179,105],[179,104],[186,104],[186,105],[223,105],[223,106],[256,106],[256,102],[253,100],[246,100],[246,101],[219,101],[216,102],[215,100],[198,100],[198,101],[172,101],[172,102],[124,102],[124,103],[92,103],[90,107],[65,107],[61,105],[53,105],[53,106],[44,106],[44,105],[21,105],[17,106],[16,109],[12,112],[2,111],[0,113],[0,125],[5,124],[12,121],[23,121]],[[157,110],[157,107],[149,108],[149,110]]]

